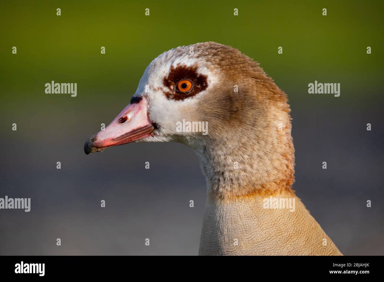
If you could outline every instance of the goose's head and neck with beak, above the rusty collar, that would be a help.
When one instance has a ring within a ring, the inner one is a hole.
[[[175,141],[197,153],[212,195],[290,189],[289,113],[286,94],[258,63],[230,46],[197,43],[154,59],[129,105],[84,151]]]

